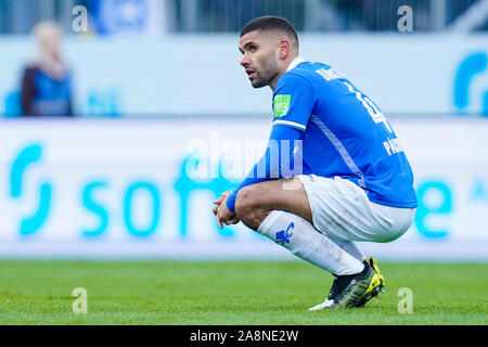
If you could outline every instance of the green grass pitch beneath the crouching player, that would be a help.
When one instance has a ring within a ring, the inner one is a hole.
[[[384,262],[363,309],[309,312],[332,275],[303,261],[0,261],[0,324],[487,324],[488,264]],[[75,314],[75,287],[88,313]],[[398,312],[398,290],[413,313]]]

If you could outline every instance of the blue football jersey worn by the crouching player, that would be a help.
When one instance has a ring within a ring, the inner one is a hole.
[[[329,65],[288,68],[272,107],[273,126],[303,131],[306,174],[349,179],[381,205],[416,207],[412,169],[385,115]]]

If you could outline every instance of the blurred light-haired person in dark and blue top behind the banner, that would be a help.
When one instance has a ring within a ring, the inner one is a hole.
[[[24,70],[22,114],[73,116],[70,72],[61,56],[63,31],[54,22],[41,22],[34,36],[39,55]]]

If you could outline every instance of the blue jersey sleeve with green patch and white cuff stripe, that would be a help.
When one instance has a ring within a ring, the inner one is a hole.
[[[273,93],[273,126],[305,131],[317,100],[317,92],[307,78],[294,73],[282,75]]]

